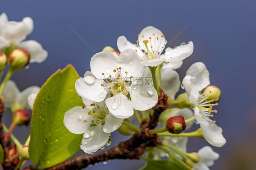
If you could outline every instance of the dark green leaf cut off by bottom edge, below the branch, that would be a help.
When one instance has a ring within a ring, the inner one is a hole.
[[[143,158],[147,161],[139,170],[191,170],[189,166],[184,164],[178,158],[172,158],[169,160],[151,160],[148,158]]]

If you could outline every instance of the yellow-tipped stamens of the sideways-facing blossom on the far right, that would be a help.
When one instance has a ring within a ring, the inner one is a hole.
[[[198,108],[200,109],[200,113],[204,116],[206,120],[211,122],[216,122],[215,120],[211,120],[210,117],[214,117],[213,113],[217,113],[217,110],[213,110],[215,105],[218,105],[217,101],[219,101],[219,97],[217,99],[206,100],[211,98],[211,91],[205,91],[200,95],[200,98],[197,100]]]

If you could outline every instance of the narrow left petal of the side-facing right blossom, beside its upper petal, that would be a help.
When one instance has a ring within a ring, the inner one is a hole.
[[[196,79],[195,77],[191,77],[190,75],[186,75],[182,81],[182,84],[184,86],[184,89],[186,90],[186,93],[188,95],[188,98],[191,103],[193,103],[195,106],[197,105],[197,100],[200,97],[200,93],[197,90],[196,85]]]

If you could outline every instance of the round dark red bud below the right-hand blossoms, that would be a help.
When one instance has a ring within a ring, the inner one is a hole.
[[[180,134],[186,129],[184,117],[179,115],[169,118],[166,121],[166,128],[172,134]]]

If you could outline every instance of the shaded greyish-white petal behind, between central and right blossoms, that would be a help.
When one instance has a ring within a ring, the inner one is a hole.
[[[161,82],[164,93],[167,94],[170,99],[174,100],[180,87],[179,74],[171,67],[161,68]]]

